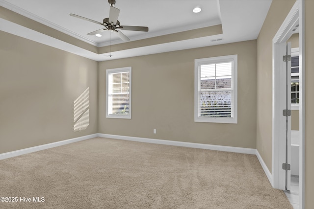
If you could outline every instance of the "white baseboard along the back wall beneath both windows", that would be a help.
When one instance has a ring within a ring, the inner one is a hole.
[[[218,150],[218,151],[225,151],[225,152],[236,152],[236,153],[252,154],[252,155],[256,154],[256,149],[241,148],[241,147],[219,146],[219,145],[201,144],[201,143],[192,143],[192,142],[183,142],[183,141],[171,141],[171,140],[163,140],[163,139],[127,137],[127,136],[119,136],[119,135],[111,135],[111,134],[98,134],[98,137],[139,141],[139,142],[155,143],[155,144],[164,144],[164,145],[173,145],[173,146],[183,146],[183,147],[200,148],[200,149],[210,149],[210,150]]]

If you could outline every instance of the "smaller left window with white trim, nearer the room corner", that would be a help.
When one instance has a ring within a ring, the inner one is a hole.
[[[106,117],[131,119],[131,67],[106,70]]]

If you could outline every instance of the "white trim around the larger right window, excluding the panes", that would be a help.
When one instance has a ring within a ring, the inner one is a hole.
[[[199,66],[205,64],[221,63],[233,61],[232,68],[232,88],[233,89],[233,117],[201,117],[199,116],[199,98],[200,98],[200,83],[199,83]],[[210,123],[234,123],[237,124],[237,54],[210,57],[203,59],[195,59],[194,61],[194,122],[210,122]]]

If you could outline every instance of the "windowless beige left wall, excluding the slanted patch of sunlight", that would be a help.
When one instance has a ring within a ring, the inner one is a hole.
[[[0,153],[97,133],[98,63],[0,31]],[[90,124],[73,102],[90,87]]]

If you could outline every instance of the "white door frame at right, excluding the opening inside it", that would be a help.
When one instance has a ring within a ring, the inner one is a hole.
[[[300,167],[299,167],[299,208],[305,207],[305,79],[304,79],[304,0],[296,0],[291,8],[285,21],[277,31],[273,38],[273,67],[272,67],[272,181],[274,188],[285,189],[285,170],[282,169],[282,163],[286,161],[286,118],[282,116],[282,111],[285,109],[286,100],[283,95],[286,93],[285,79],[282,77],[282,72],[285,69],[285,63],[282,61],[282,55],[286,51],[286,41],[292,35],[292,29],[299,24],[299,78],[300,78],[300,108],[299,108],[299,133],[300,133]],[[283,136],[284,135],[284,136]]]

